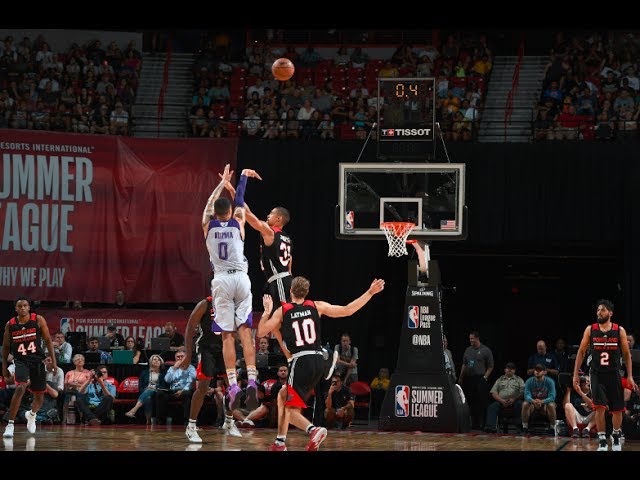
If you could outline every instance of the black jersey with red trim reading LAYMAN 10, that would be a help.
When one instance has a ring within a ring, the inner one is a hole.
[[[282,340],[291,354],[304,350],[319,351],[320,314],[312,300],[282,304]]]

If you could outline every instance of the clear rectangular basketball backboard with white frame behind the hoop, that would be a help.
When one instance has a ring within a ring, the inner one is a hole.
[[[341,163],[336,236],[384,240],[383,222],[416,224],[409,239],[466,238],[462,163]]]

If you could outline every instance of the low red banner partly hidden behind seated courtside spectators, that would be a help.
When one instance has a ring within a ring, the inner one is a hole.
[[[38,314],[47,321],[51,335],[60,330],[64,334],[86,332],[87,338],[101,337],[107,333],[107,326],[113,324],[125,338],[141,337],[149,348],[151,339],[164,333],[167,322],[175,323],[178,333],[184,335],[191,310],[40,308]],[[258,328],[261,316],[262,312],[253,312],[253,328]]]

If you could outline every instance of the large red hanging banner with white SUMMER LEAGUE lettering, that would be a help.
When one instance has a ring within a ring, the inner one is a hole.
[[[0,298],[195,302],[200,219],[236,139],[0,130]]]

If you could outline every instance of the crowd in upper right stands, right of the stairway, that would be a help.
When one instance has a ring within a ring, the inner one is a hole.
[[[637,137],[639,57],[637,32],[558,33],[545,69],[535,139]]]

